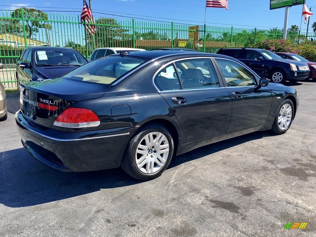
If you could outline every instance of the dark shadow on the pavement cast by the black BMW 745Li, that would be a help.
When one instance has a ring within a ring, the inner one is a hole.
[[[255,132],[204,146],[174,157],[169,168],[266,136],[273,135]],[[120,168],[81,173],[54,170],[33,159],[24,148],[1,152],[0,157],[0,203],[9,207],[33,206],[141,183]]]

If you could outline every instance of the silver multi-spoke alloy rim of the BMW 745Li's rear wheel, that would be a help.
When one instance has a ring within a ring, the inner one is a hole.
[[[161,132],[150,132],[138,143],[135,162],[142,173],[158,172],[166,163],[169,155],[169,142]]]

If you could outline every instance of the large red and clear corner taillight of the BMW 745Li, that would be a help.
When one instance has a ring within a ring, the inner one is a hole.
[[[89,109],[67,108],[53,123],[55,126],[66,128],[84,128],[100,125],[100,119]]]

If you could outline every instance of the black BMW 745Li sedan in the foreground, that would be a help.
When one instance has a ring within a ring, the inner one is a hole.
[[[186,51],[123,52],[60,78],[21,84],[16,123],[38,161],[62,171],[121,166],[140,180],[206,144],[262,130],[285,133],[296,90],[240,61]]]

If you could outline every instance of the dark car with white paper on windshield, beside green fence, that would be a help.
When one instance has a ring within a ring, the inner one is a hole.
[[[88,61],[79,52],[63,47],[28,47],[16,64],[19,84],[56,78]]]

